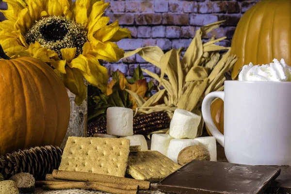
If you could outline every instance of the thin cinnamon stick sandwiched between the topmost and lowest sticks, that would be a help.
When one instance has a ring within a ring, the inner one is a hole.
[[[42,181],[42,180],[40,180],[40,181],[35,181],[35,186],[41,187],[43,185],[60,185],[60,184],[66,184],[66,183],[78,183],[78,181],[64,182],[64,181]],[[87,182],[87,183],[97,183],[97,184],[104,185],[106,187],[112,187],[115,189],[138,190],[138,185],[106,183],[106,182]]]

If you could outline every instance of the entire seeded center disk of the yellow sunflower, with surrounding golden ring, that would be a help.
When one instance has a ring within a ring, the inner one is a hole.
[[[28,30],[25,35],[28,44],[39,42],[42,47],[54,50],[60,59],[61,49],[76,48],[75,58],[83,51],[87,32],[81,24],[63,16],[44,17]]]

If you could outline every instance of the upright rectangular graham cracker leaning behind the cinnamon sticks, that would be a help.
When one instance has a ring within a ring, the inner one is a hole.
[[[128,139],[69,137],[59,170],[124,177],[128,157]]]

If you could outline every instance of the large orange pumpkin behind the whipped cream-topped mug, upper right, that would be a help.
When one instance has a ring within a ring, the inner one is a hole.
[[[232,78],[243,65],[269,64],[274,58],[291,65],[291,0],[262,0],[244,13],[231,52],[239,57]]]

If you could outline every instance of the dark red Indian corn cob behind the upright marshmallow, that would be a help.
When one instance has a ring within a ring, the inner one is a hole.
[[[138,114],[133,117],[133,133],[146,135],[150,132],[170,127],[171,119],[166,112],[153,112]],[[106,133],[106,120],[89,123],[87,136],[93,137],[95,133]]]

